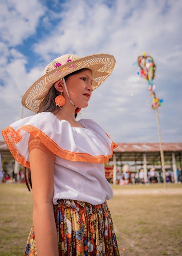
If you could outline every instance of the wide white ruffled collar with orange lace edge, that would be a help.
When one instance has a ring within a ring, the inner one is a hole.
[[[106,163],[117,146],[91,119],[80,119],[83,127],[72,127],[51,112],[23,118],[2,131],[9,150],[20,164],[28,167],[28,139],[31,134],[58,157],[68,161]]]

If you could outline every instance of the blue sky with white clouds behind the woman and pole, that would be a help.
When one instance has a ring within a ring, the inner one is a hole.
[[[146,52],[154,58],[156,93],[164,100],[162,141],[182,142],[181,27],[182,0],[2,0],[0,130],[19,119],[21,96],[54,58],[109,53],[114,71],[79,118],[98,122],[116,143],[158,142],[147,82],[132,65]]]

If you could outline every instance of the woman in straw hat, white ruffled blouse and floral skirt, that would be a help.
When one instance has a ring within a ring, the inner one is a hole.
[[[33,192],[25,255],[119,255],[104,177],[116,144],[94,121],[75,120],[114,65],[109,54],[58,57],[22,98],[37,114],[2,132]]]

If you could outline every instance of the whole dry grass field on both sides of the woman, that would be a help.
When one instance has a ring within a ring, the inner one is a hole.
[[[157,186],[113,186],[156,189]],[[169,189],[182,188],[170,184]],[[117,195],[108,201],[123,256],[182,256],[182,195]],[[32,195],[21,184],[0,184],[0,256],[20,256],[32,225]]]

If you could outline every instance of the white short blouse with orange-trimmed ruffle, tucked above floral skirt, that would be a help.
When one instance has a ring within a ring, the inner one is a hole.
[[[25,167],[29,167],[30,134],[39,137],[55,153],[54,204],[58,199],[73,199],[96,205],[113,196],[104,163],[117,145],[94,121],[80,119],[79,123],[85,128],[71,127],[53,113],[42,112],[16,121],[2,131],[13,157]]]

